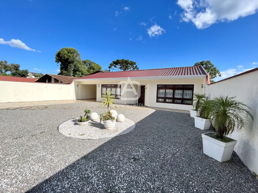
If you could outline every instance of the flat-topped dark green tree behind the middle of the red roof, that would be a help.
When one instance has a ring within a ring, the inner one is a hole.
[[[127,70],[139,70],[138,66],[136,65],[136,62],[129,61],[128,59],[117,59],[110,63],[109,65],[109,71],[115,70],[114,68],[117,68],[122,71]]]

